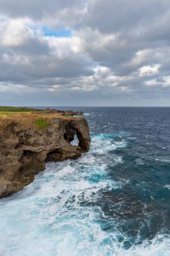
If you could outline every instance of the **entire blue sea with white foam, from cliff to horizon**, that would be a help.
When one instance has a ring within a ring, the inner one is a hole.
[[[170,255],[170,108],[70,108],[91,150],[0,200],[0,255]]]

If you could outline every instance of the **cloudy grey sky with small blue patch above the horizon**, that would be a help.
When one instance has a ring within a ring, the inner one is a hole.
[[[170,106],[170,1],[0,0],[0,105]]]

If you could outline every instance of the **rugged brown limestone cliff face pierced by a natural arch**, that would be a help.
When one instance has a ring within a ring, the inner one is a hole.
[[[75,134],[79,146],[70,143]],[[83,117],[51,117],[45,129],[8,121],[0,131],[0,197],[32,183],[46,161],[77,158],[89,145],[89,127]]]

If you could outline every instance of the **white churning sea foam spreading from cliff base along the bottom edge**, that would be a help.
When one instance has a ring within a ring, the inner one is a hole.
[[[91,144],[91,151],[78,160],[47,163],[46,170],[24,191],[1,199],[0,255],[168,255],[168,237],[157,236],[152,243],[145,241],[126,250],[124,241],[128,237],[120,243],[120,231],[102,229],[101,216],[105,215],[96,201],[102,191],[118,189],[128,181],[116,182],[108,177],[109,160],[101,152],[126,147],[127,143],[99,135],[92,137]],[[112,154],[112,164],[122,161],[121,156]]]

